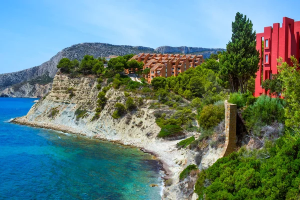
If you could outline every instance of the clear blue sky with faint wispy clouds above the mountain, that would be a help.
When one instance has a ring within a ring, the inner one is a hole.
[[[300,20],[299,0],[0,0],[0,73],[81,42],[225,48],[236,12],[253,30]]]

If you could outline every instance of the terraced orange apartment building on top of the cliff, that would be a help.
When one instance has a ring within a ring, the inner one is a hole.
[[[150,68],[150,73],[144,76],[148,83],[151,83],[151,80],[157,76],[177,76],[188,68],[204,62],[203,55],[167,53],[138,53],[129,60],[131,59],[138,62],[142,61],[144,63],[143,69]]]

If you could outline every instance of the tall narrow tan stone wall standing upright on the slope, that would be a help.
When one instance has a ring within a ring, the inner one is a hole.
[[[225,106],[225,134],[226,140],[221,157],[227,156],[236,148],[236,104],[224,102]]]

